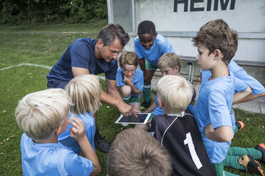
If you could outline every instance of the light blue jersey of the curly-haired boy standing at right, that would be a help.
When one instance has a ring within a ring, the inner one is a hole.
[[[211,163],[221,163],[226,155],[231,141],[228,143],[217,143],[209,140],[204,133],[204,128],[211,123],[212,128],[220,126],[231,126],[234,128],[234,119],[230,116],[232,101],[234,97],[234,75],[202,82],[199,97],[194,105],[192,113],[195,116],[199,131],[202,134],[205,148]]]

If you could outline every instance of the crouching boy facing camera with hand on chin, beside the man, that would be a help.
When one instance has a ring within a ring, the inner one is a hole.
[[[120,68],[116,75],[117,89],[125,103],[141,111],[140,97],[144,84],[143,72],[139,68],[138,57],[134,52],[125,51],[120,55]]]

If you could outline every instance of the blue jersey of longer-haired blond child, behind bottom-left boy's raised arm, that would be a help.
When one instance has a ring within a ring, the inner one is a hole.
[[[70,111],[69,114],[69,121],[71,121],[72,111]],[[78,114],[78,119],[81,119],[85,125],[85,135],[88,137],[88,141],[90,142],[90,145],[95,150],[94,145],[94,135],[95,135],[95,119],[92,114],[85,113],[85,114]],[[71,138],[70,136],[70,129],[73,128],[73,126],[68,123],[67,129],[65,132],[63,132],[61,135],[58,136],[58,142],[66,145],[68,148],[71,148],[75,153],[80,153],[80,146],[78,145],[78,142],[76,139]]]

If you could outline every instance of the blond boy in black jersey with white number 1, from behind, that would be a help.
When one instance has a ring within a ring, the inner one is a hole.
[[[158,103],[164,115],[152,119],[150,133],[170,153],[172,175],[216,175],[196,120],[187,109],[192,99],[192,84],[184,77],[166,75],[157,88]]]

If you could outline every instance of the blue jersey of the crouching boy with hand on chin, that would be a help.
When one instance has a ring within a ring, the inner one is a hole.
[[[123,69],[122,68],[118,68],[118,72],[116,75],[116,82],[117,82],[117,87],[122,87],[123,85],[125,85],[125,82],[123,82]],[[143,79],[143,72],[139,68],[135,70],[135,75],[133,75],[133,84],[140,92],[142,92],[142,87],[144,85],[144,79]],[[135,94],[133,94],[133,92],[131,92],[130,95],[133,97],[139,97],[139,98],[141,97],[141,94],[136,96]]]

